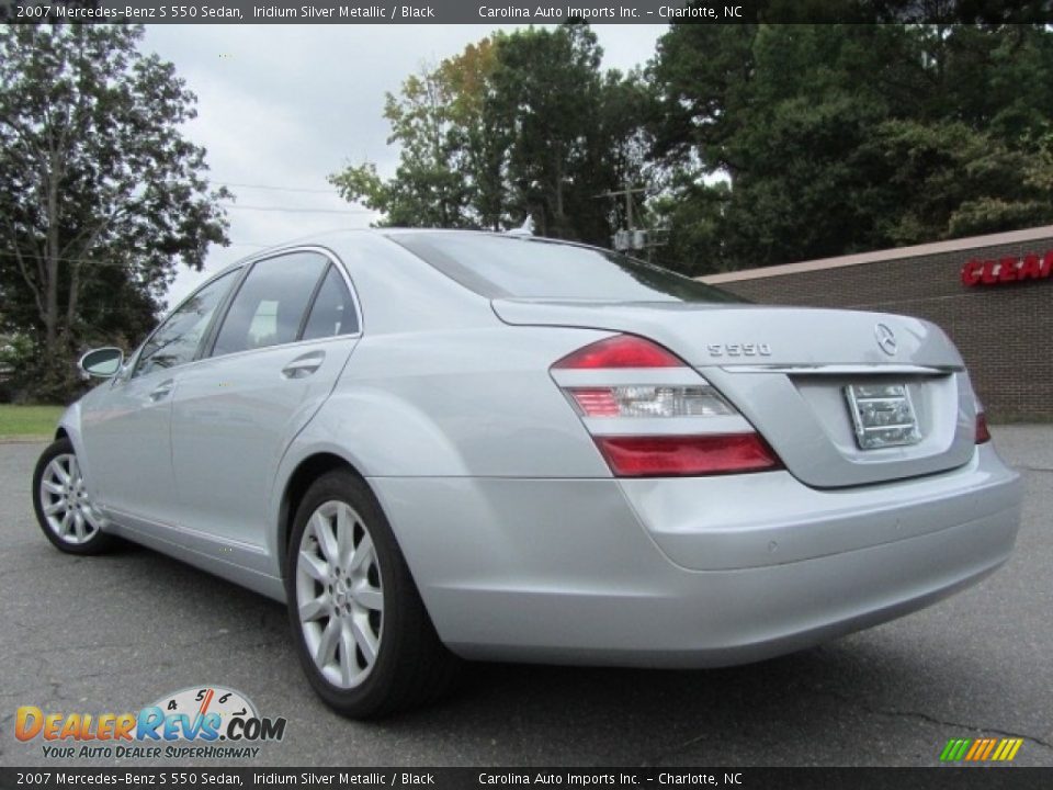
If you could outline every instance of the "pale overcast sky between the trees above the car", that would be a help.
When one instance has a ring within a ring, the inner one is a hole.
[[[384,95],[421,66],[456,55],[494,30],[519,25],[152,25],[143,48],[176,65],[197,95],[186,136],[208,150],[210,178],[227,206],[229,247],[212,247],[203,272],[180,267],[174,306],[211,273],[262,247],[340,227],[369,227],[373,212],[347,203],[326,177],[375,162],[390,176]],[[666,25],[596,25],[603,67],[645,64]]]

